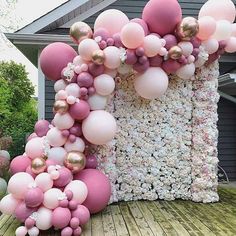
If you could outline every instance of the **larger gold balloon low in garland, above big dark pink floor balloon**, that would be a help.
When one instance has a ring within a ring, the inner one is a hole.
[[[86,157],[82,152],[69,152],[65,157],[64,165],[73,173],[78,173],[80,170],[85,168]]]

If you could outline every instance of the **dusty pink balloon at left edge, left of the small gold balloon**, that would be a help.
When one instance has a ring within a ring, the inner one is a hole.
[[[31,164],[31,159],[27,156],[17,156],[10,164],[11,174],[16,174],[18,172],[25,172],[27,167]]]

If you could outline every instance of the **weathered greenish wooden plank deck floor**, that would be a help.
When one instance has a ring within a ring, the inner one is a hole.
[[[122,202],[92,217],[83,236],[200,236],[236,235],[236,189],[220,188],[221,201],[200,204],[190,201]],[[19,223],[0,218],[0,236],[13,236]],[[60,235],[47,232],[40,235]]]

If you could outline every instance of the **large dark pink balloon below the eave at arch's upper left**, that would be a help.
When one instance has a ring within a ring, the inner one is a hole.
[[[52,43],[45,47],[39,57],[40,67],[48,79],[58,80],[61,71],[77,56],[76,51],[65,43]]]

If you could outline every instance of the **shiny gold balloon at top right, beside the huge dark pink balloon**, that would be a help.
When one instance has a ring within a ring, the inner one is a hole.
[[[176,33],[181,40],[190,41],[191,38],[197,35],[199,31],[199,24],[197,19],[193,17],[185,17],[178,24]]]

